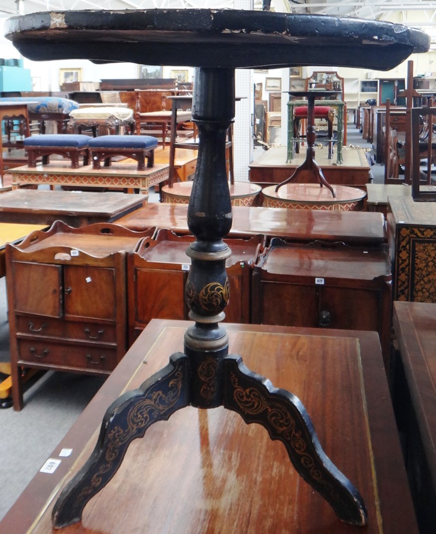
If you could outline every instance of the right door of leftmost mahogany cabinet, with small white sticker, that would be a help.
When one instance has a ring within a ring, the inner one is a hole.
[[[65,318],[115,320],[114,269],[66,265],[64,293]]]

